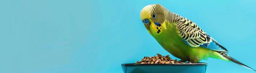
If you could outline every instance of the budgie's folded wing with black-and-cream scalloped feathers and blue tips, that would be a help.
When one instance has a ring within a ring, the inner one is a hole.
[[[183,42],[192,47],[205,47],[210,50],[223,51],[227,50],[212,39],[206,32],[197,26],[191,20],[183,17],[176,19],[176,27]]]

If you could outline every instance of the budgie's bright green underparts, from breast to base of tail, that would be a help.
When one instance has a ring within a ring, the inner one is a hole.
[[[157,42],[173,56],[193,62],[199,62],[208,57],[223,59],[216,51],[204,47],[191,47],[184,43],[175,23],[165,22],[160,27],[162,28],[161,32],[153,33],[156,32],[156,30],[150,30],[150,32]]]

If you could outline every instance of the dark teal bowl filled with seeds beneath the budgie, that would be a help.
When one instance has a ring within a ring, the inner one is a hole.
[[[207,63],[197,64],[122,64],[124,73],[205,73]]]

